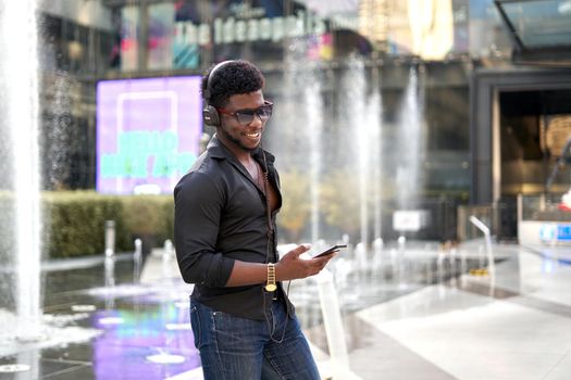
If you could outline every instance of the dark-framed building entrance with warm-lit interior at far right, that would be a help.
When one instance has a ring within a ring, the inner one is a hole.
[[[488,205],[494,235],[518,237],[517,198],[562,194],[571,162],[571,71],[476,69],[471,88],[471,203]]]

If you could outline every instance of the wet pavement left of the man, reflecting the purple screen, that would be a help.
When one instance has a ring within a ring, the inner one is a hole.
[[[138,282],[129,254],[50,264],[44,270],[44,330],[60,337],[4,340],[0,365],[32,370],[0,372],[1,379],[164,379],[200,365],[188,325],[189,286],[170,276]]]

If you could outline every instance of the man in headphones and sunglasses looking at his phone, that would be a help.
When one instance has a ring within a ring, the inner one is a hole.
[[[273,104],[246,61],[226,61],[202,78],[207,151],[174,190],[181,274],[195,283],[190,322],[204,379],[319,379],[282,281],[316,275],[333,255],[282,258],[275,217],[282,205],[274,156],[261,149]]]

